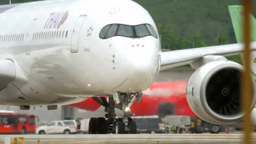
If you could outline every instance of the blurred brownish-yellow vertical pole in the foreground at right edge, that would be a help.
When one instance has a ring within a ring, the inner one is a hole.
[[[251,22],[250,22],[250,13],[251,13],[251,0],[243,0],[244,6],[244,24],[243,24],[243,38],[245,45],[244,52],[244,67],[245,72],[243,73],[243,111],[245,112],[245,117],[243,120],[243,128],[245,133],[245,144],[251,144],[251,96],[252,96],[252,86],[251,86],[251,74],[250,74],[250,40],[251,40]]]

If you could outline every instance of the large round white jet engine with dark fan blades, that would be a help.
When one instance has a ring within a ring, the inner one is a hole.
[[[201,119],[231,124],[242,119],[241,78],[243,66],[232,61],[211,61],[198,68],[187,85],[189,107]],[[255,81],[253,90],[255,89]],[[253,91],[253,108],[256,95]]]

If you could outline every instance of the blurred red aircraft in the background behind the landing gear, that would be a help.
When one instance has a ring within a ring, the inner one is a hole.
[[[190,109],[186,99],[187,81],[155,82],[143,91],[141,102],[131,104],[135,116],[187,115],[197,117]],[[68,106],[96,111],[100,105],[92,98]]]

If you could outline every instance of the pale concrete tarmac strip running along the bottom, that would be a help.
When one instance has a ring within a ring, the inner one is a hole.
[[[0,135],[0,144],[5,137],[24,137],[24,144],[241,144],[243,134],[106,134],[106,135]],[[158,143],[157,143],[158,141]],[[252,134],[253,143],[256,134]]]

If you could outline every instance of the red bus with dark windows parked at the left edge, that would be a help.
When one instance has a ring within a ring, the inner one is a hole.
[[[0,111],[1,134],[35,133],[37,116],[20,114],[13,111]]]

